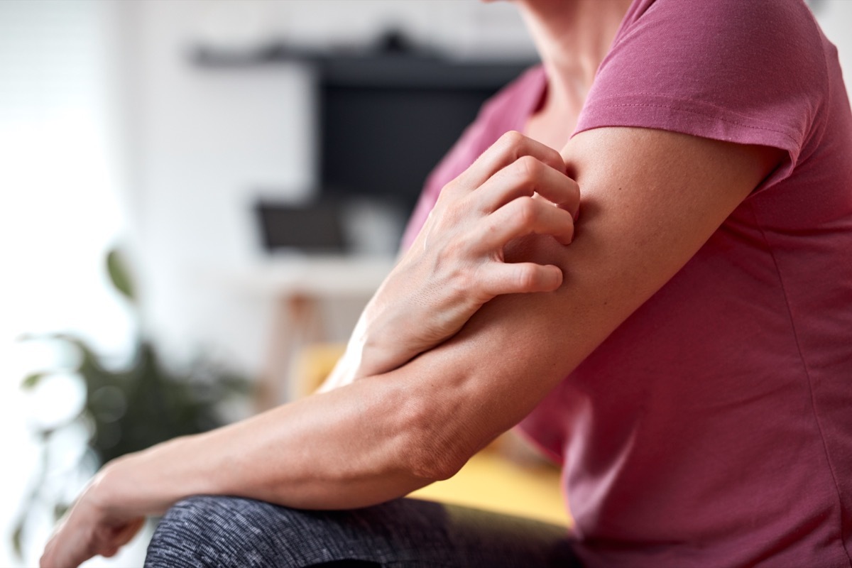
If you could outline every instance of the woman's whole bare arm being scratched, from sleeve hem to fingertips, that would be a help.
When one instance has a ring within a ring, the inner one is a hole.
[[[566,247],[532,236],[507,250],[509,261],[560,267],[558,290],[498,296],[452,339],[389,373],[112,463],[43,565],[110,552],[110,527],[124,537],[184,496],[354,508],[450,477],[659,290],[782,156],[625,128],[576,135],[562,155],[583,192],[577,238]],[[107,537],[92,536],[99,531]]]

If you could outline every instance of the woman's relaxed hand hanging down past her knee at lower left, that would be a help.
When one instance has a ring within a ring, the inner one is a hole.
[[[100,554],[112,556],[130,542],[145,523],[145,517],[122,514],[105,498],[101,470],[73,507],[60,521],[44,548],[41,568],[74,568]]]

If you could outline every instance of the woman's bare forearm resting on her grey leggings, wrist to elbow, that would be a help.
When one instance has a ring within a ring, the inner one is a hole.
[[[196,494],[296,508],[384,502],[435,480],[413,449],[426,419],[415,400],[387,378],[371,377],[120,458],[95,491],[107,508],[140,515]]]

